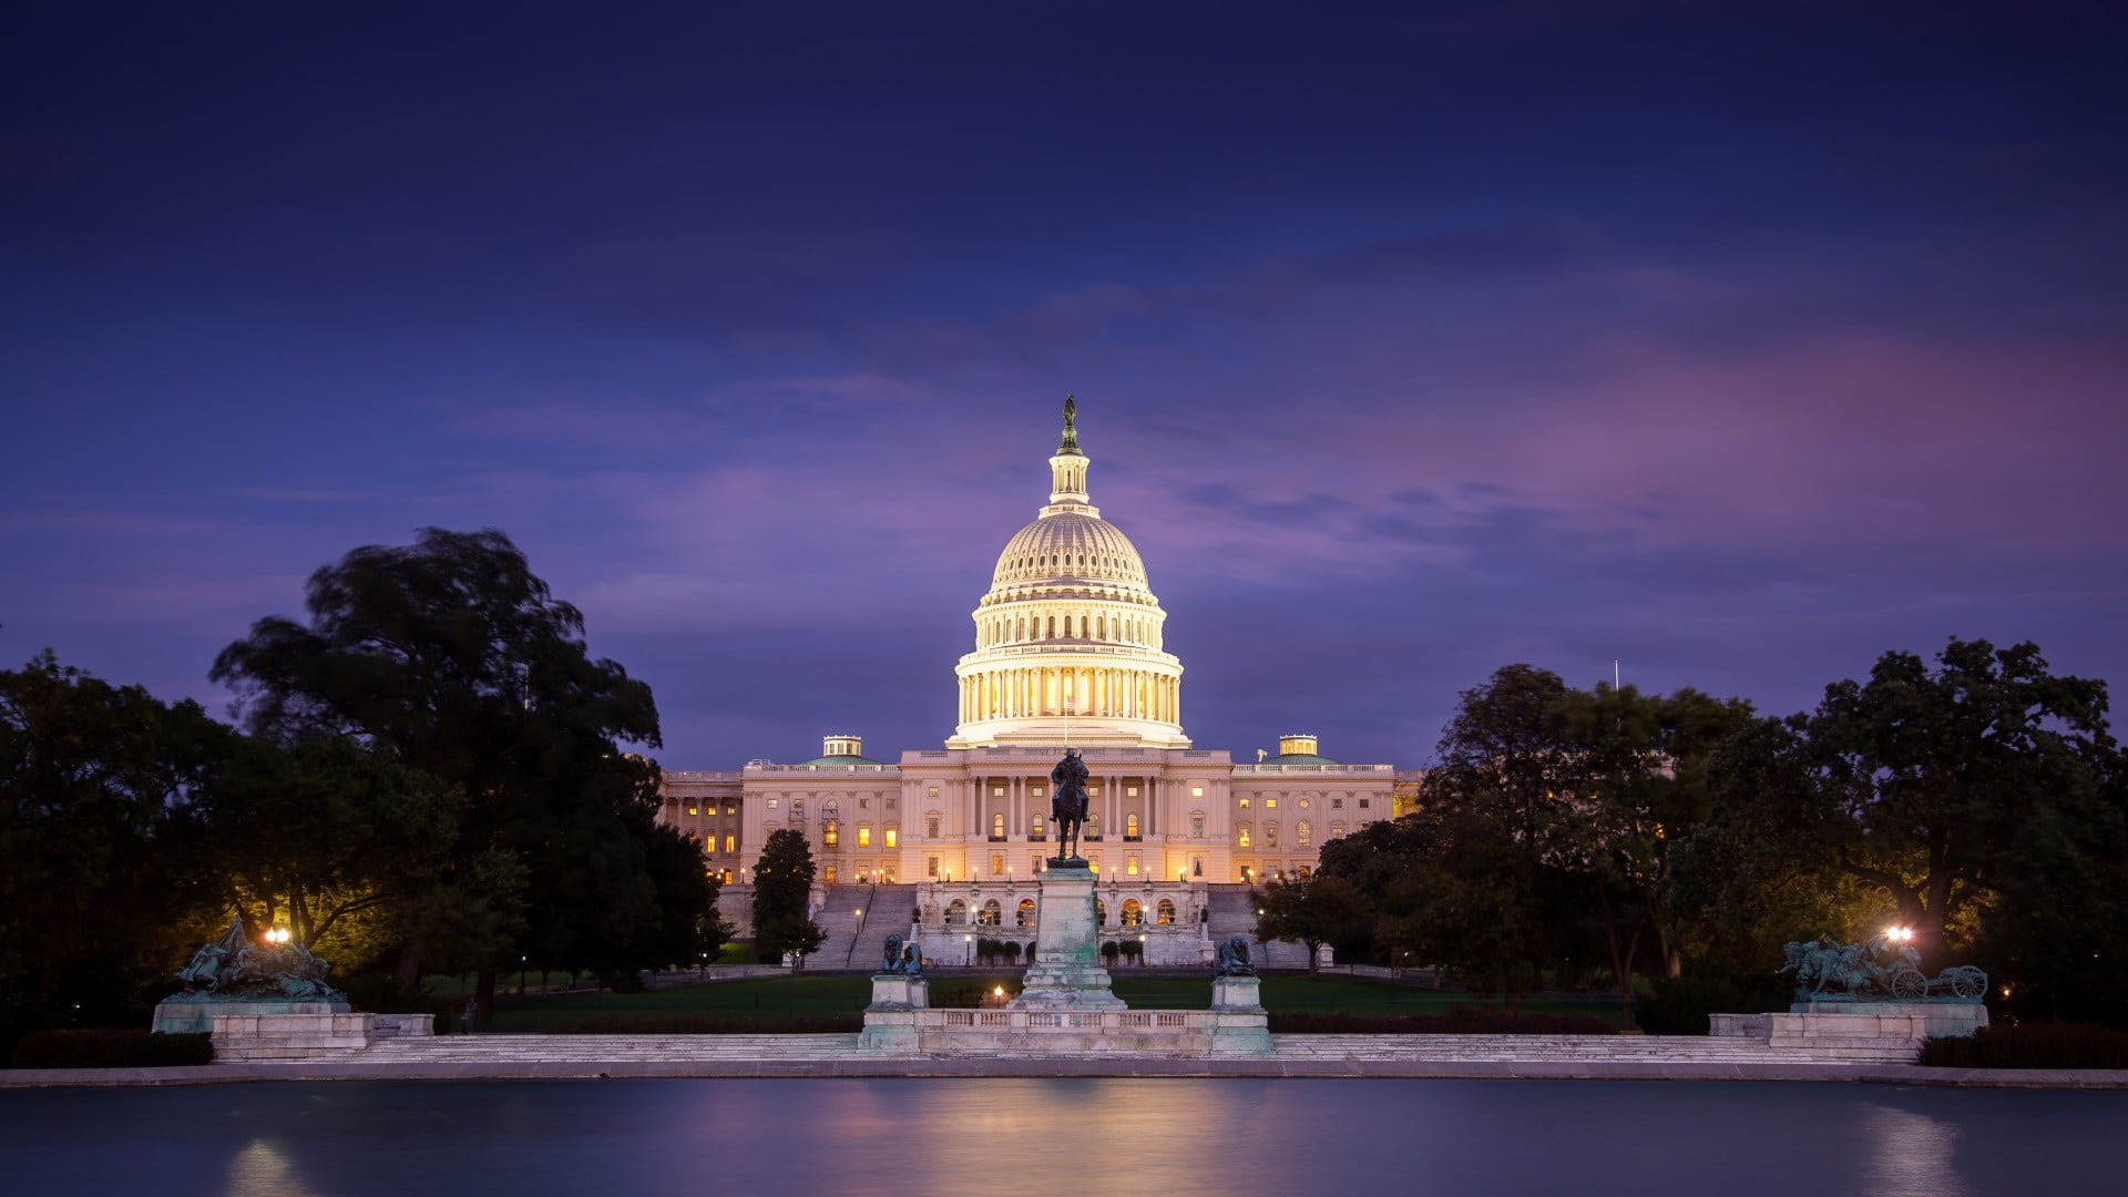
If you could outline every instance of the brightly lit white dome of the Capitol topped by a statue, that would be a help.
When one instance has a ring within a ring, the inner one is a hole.
[[[947,748],[1128,743],[1187,748],[1181,660],[1145,560],[1085,490],[1077,403],[1049,458],[1049,503],[1007,541],[960,658],[960,726]]]

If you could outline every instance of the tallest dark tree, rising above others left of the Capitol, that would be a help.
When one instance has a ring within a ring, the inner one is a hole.
[[[311,575],[306,607],[309,624],[260,620],[215,658],[211,677],[236,688],[247,726],[349,737],[464,792],[445,884],[479,882],[487,852],[513,854],[528,871],[526,952],[670,963],[658,958],[666,927],[694,927],[700,909],[692,897],[660,905],[675,890],[647,871],[658,767],[621,752],[660,743],[658,707],[649,686],[589,656],[583,616],[509,537],[426,528],[413,545],[358,547]],[[417,922],[402,946],[404,982],[436,927]],[[509,948],[489,944],[479,963],[481,1018]]]

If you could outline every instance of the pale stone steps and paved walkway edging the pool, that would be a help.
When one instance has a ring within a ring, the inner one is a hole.
[[[1307,1076],[1575,1080],[1843,1080],[2013,1088],[2128,1088],[2128,1071],[1930,1069],[1832,1059],[1749,1039],[1639,1035],[1273,1035],[1266,1059],[964,1056],[860,1052],[855,1035],[445,1035],[387,1039],[330,1061],[170,1069],[0,1069],[0,1088],[255,1080],[832,1078],[832,1076]]]

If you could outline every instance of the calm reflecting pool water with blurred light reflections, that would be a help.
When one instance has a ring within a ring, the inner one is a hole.
[[[2128,1093],[1447,1080],[617,1080],[0,1093],[11,1193],[2115,1191]]]

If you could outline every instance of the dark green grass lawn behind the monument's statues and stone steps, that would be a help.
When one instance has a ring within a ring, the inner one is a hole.
[[[1132,975],[1113,969],[1115,995],[1136,1010],[1204,1010],[1211,1005],[1211,978]],[[1017,988],[1017,969],[951,969],[930,973],[932,993],[960,986],[1004,984]],[[496,1031],[538,1031],[549,1022],[617,1014],[628,1018],[751,1018],[785,1022],[824,1014],[864,1010],[872,982],[864,975],[796,975],[717,982],[700,986],[658,988],[647,993],[564,993],[553,997],[496,997]],[[1451,1005],[1477,1005],[1466,993],[1439,993],[1400,984],[1356,978],[1264,978],[1264,1007],[1287,1012],[1345,1014],[1447,1014]],[[1524,1001],[1526,1014],[1594,1014],[1607,1022],[1630,1027],[1617,1016],[1615,1001]]]

